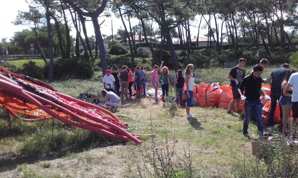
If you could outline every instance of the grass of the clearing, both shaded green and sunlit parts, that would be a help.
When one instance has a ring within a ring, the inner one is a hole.
[[[276,68],[268,66],[262,76],[269,77]],[[251,69],[252,66],[247,67],[247,70]],[[227,81],[229,70],[195,69],[195,83]],[[173,74],[170,71],[170,76]],[[96,74],[91,80],[56,81],[50,85],[75,97],[83,92],[98,94],[103,87],[100,76]],[[150,98],[142,98],[124,101],[117,114],[137,119],[121,119],[133,128],[130,132],[155,133],[156,148],[167,145],[165,138],[169,145],[175,143],[174,166],[183,163],[179,158],[185,155],[184,148],[189,143],[191,155],[188,156],[192,160],[194,177],[238,177],[235,167],[242,165],[240,158],[254,163],[249,139],[242,136],[243,115],[227,115],[226,109],[216,107],[192,107],[191,112],[196,117],[187,119],[184,108],[171,107],[170,104],[163,107],[162,103],[155,104]],[[13,120],[9,125],[5,112],[0,113],[1,176],[11,176],[14,171],[19,171],[20,177],[139,177],[139,163],[145,163],[145,166],[141,164],[142,170],[152,168],[143,154],[144,145],[151,143],[148,136],[142,136],[143,144],[137,145],[55,120],[52,139],[51,120],[36,123]],[[248,131],[252,138],[257,138],[256,125],[250,123]],[[177,169],[176,173],[180,174],[182,170]],[[150,177],[146,171],[142,171],[142,175]]]

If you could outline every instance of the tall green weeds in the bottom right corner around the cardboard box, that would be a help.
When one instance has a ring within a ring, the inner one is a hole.
[[[263,158],[257,155],[254,160],[248,161],[245,155],[243,158],[235,156],[237,163],[233,174],[236,177],[296,177],[298,150],[288,143],[288,139],[280,133],[271,142],[261,143],[261,147],[266,147]]]

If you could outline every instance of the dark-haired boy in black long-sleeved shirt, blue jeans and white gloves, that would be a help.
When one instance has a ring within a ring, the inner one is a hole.
[[[245,117],[243,122],[243,135],[249,137],[247,129],[249,121],[252,119],[252,112],[257,120],[257,128],[259,136],[263,136],[263,120],[262,120],[262,103],[260,101],[260,94],[264,96],[266,101],[270,100],[268,95],[265,95],[262,88],[262,78],[260,77],[263,72],[263,68],[260,64],[254,66],[253,72],[244,77],[239,85],[238,93],[240,98],[244,100]],[[243,96],[243,88],[245,93]]]

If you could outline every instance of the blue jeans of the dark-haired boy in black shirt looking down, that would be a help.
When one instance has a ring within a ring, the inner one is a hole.
[[[263,120],[262,120],[262,103],[260,99],[254,101],[244,101],[244,110],[245,110],[245,117],[243,122],[243,134],[248,134],[248,124],[249,121],[252,119],[252,112],[257,120],[257,128],[259,131],[259,135],[263,136]]]

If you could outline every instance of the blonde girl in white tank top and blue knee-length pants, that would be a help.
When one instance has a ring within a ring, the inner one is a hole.
[[[190,113],[190,107],[193,103],[193,85],[195,82],[195,78],[193,77],[193,64],[188,64],[185,68],[185,84],[186,87],[184,89],[184,94],[186,95],[186,118],[194,117],[193,114]]]

